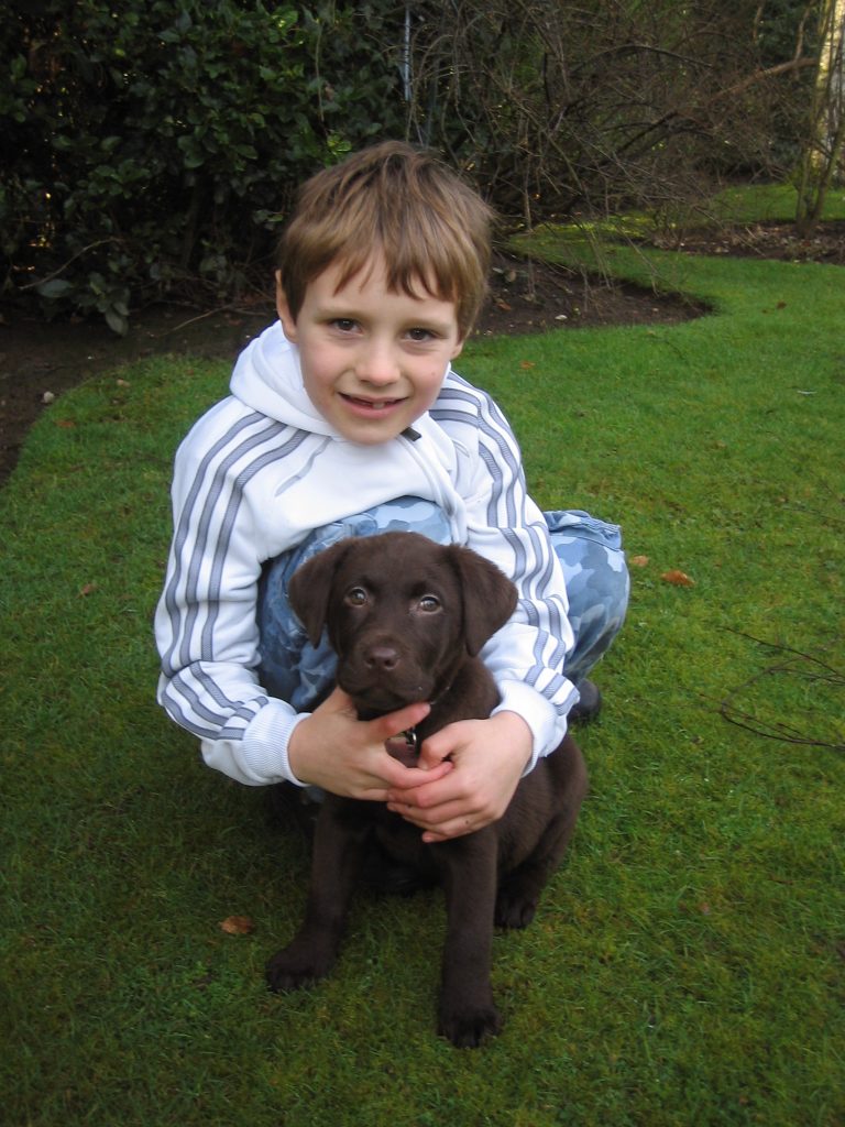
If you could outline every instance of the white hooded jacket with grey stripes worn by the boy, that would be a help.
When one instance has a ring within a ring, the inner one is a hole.
[[[492,400],[450,369],[413,424],[418,437],[349,442],[311,403],[299,349],[278,322],[243,350],[231,392],[177,452],[175,534],[155,614],[159,702],[201,738],[206,763],[250,786],[299,782],[287,743],[302,716],[256,674],[261,566],[314,529],[404,496],[439,505],[454,542],[517,585],[517,610],[482,657],[498,710],[531,727],[528,770],[557,747],[578,699],[562,674],[573,645],[563,576]]]

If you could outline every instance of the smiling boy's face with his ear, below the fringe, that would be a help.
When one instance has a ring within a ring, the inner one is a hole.
[[[278,316],[323,418],[350,442],[386,442],[428,410],[461,352],[455,305],[392,293],[377,258],[338,289],[341,275],[318,275],[295,320],[277,285]]]

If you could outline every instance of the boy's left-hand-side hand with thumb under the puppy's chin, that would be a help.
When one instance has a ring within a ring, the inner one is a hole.
[[[437,761],[432,771],[406,767],[384,743],[419,724],[429,711],[428,704],[409,704],[377,720],[359,720],[349,696],[336,689],[291,734],[291,770],[300,782],[344,798],[385,802],[393,788],[410,793],[424,782],[443,779],[453,764]]]

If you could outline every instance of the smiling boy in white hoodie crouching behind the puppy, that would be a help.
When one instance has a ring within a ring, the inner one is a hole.
[[[206,763],[250,786],[388,802],[426,842],[501,816],[579,687],[597,711],[586,673],[628,598],[619,530],[544,517],[506,420],[452,371],[484,296],[490,219],[450,169],[399,142],[303,187],[281,243],[279,321],[178,451],[155,618],[159,700]],[[417,767],[384,744],[428,704],[373,721],[339,689],[318,704],[331,655],[310,647],[285,595],[314,551],[386,529],[466,544],[519,593],[482,651],[500,706],[429,738]]]

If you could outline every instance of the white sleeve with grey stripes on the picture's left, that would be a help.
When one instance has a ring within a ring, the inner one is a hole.
[[[212,426],[207,416],[176,460],[175,533],[155,614],[159,701],[201,738],[206,758],[212,755],[233,778],[260,784],[288,777],[284,729],[295,715],[268,699],[255,673],[261,538],[249,486],[305,436],[257,412],[235,417],[211,443],[203,441],[203,426]],[[267,762],[266,748],[256,762],[247,738],[267,708],[277,713],[277,763]]]

